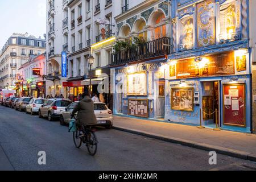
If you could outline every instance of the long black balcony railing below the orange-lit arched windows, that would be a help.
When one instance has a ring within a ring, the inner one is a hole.
[[[169,55],[170,54],[170,38],[163,37],[160,39],[152,40],[134,48],[124,49],[112,53],[112,65],[126,64],[131,61],[148,59],[151,57]]]

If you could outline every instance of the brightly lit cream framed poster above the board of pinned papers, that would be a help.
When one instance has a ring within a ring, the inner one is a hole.
[[[147,72],[127,74],[127,95],[147,96]]]

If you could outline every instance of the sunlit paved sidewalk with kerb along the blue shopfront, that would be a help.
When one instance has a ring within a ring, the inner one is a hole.
[[[256,135],[114,116],[114,129],[256,162]]]

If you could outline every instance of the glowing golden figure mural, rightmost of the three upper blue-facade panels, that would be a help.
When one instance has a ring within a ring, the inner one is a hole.
[[[240,1],[220,6],[220,29],[222,39],[232,39],[232,34],[241,26]]]

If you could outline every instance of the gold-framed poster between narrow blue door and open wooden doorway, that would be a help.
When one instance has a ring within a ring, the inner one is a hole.
[[[194,110],[194,88],[172,88],[171,109],[173,110]]]

